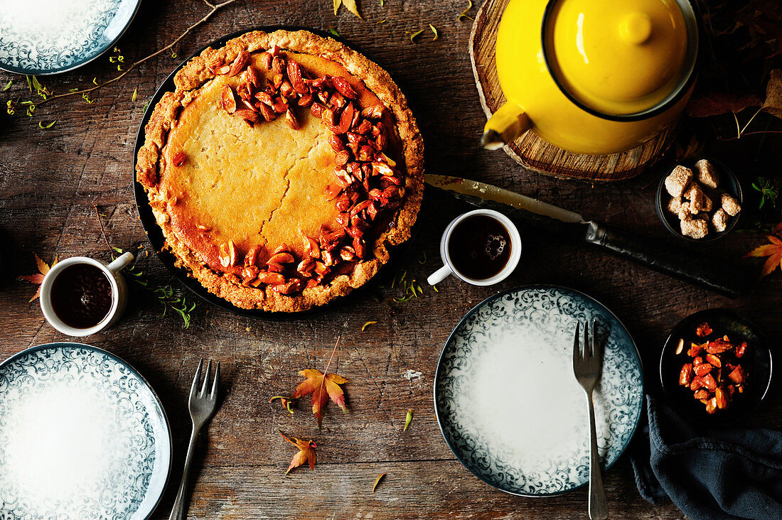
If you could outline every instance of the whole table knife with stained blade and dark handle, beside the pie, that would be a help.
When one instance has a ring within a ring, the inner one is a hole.
[[[616,256],[731,298],[739,296],[747,286],[747,274],[737,266],[666,242],[632,235],[597,221],[587,221],[579,213],[527,195],[449,175],[426,174],[425,181],[474,206],[499,211],[511,219],[600,247]]]

